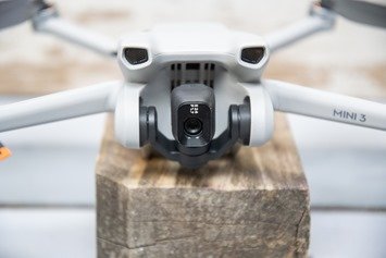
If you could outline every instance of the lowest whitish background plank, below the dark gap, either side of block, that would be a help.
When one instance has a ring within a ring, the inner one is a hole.
[[[311,217],[310,257],[386,257],[385,212],[312,211]],[[96,258],[95,221],[94,209],[0,209],[0,257]]]

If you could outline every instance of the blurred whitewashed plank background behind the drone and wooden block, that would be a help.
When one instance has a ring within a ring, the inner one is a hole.
[[[382,1],[381,1],[382,2]],[[386,3],[386,2],[385,2]],[[220,22],[266,35],[304,17],[297,0],[69,0],[63,17],[119,39],[165,22]],[[337,20],[276,52],[265,77],[386,102],[386,30]],[[115,60],[34,34],[0,32],[0,103],[120,79]],[[288,120],[311,189],[312,257],[386,257],[386,134]],[[0,257],[95,257],[95,163],[104,115],[1,134]]]

